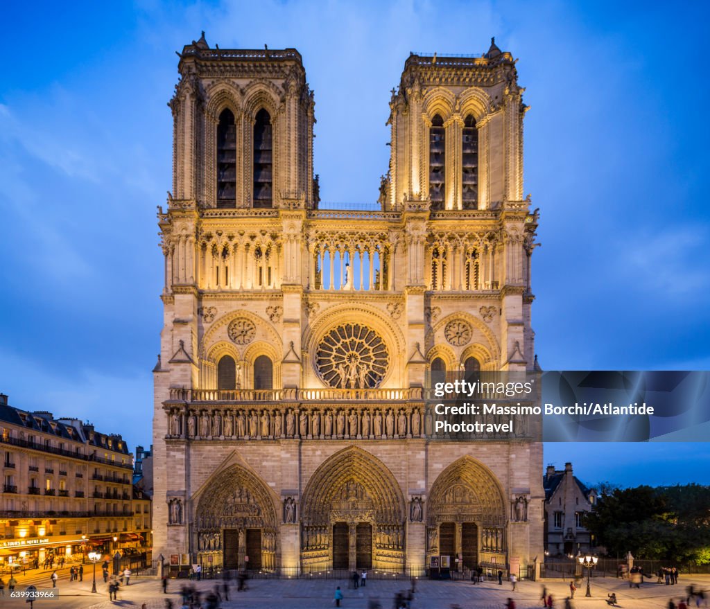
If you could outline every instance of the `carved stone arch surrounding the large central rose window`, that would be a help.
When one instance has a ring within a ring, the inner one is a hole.
[[[302,336],[302,345],[307,349],[312,362],[313,373],[319,382],[322,383],[322,380],[320,380],[320,375],[316,369],[316,361],[320,340],[330,329],[338,324],[350,323],[355,317],[359,324],[371,327],[380,334],[391,355],[402,353],[405,350],[405,341],[401,330],[381,310],[367,305],[365,302],[334,305],[320,314],[315,319],[315,322],[307,327]],[[381,388],[403,386],[401,384],[403,379],[403,360],[395,357],[391,357],[390,360],[388,371],[379,385]]]

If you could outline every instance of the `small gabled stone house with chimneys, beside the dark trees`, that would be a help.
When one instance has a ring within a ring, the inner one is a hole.
[[[596,503],[596,490],[586,488],[572,473],[572,463],[563,470],[547,466],[545,487],[545,554],[576,556],[598,551],[592,534],[582,525],[584,512]]]

